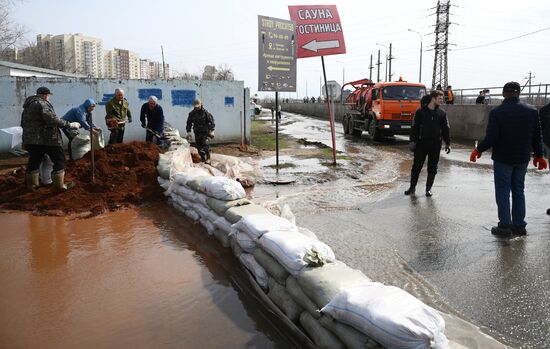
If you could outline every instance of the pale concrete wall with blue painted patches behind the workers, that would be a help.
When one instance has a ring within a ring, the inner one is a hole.
[[[193,100],[199,98],[216,121],[214,143],[240,141],[244,123],[246,138],[250,137],[248,96],[245,96],[249,92],[244,89],[243,81],[0,77],[0,128],[20,125],[25,98],[35,94],[40,86],[47,86],[52,91],[50,102],[59,116],[87,98],[96,100],[99,105],[93,114],[94,123],[103,129],[106,136],[105,103],[117,87],[123,88],[133,116],[133,123],[126,128],[125,141],[145,139],[139,112],[150,95],[159,98],[166,121],[178,128],[183,136]],[[246,108],[244,101],[247,101]],[[8,151],[10,146],[11,137],[0,132],[0,152]]]

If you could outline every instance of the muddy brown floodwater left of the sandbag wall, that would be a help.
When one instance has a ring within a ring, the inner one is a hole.
[[[1,348],[292,347],[230,251],[165,204],[0,224]]]

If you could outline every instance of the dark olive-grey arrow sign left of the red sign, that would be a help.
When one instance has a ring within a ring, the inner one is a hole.
[[[258,91],[296,91],[296,23],[258,16]]]

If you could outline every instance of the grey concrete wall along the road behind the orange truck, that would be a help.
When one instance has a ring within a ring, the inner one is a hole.
[[[269,108],[270,104],[265,104],[264,108]],[[443,110],[447,112],[447,118],[451,126],[451,138],[463,140],[482,140],[485,137],[485,128],[489,111],[495,105],[444,105]],[[285,111],[310,115],[328,120],[328,108],[326,103],[283,103],[283,114]],[[333,115],[335,122],[341,122],[344,115],[344,107],[335,104]]]

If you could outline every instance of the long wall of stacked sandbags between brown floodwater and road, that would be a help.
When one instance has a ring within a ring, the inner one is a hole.
[[[245,198],[226,177],[159,177],[170,203],[253,276],[259,292],[318,348],[447,348],[444,321],[407,292],[336,260],[311,231]]]

